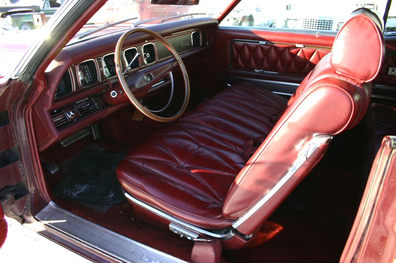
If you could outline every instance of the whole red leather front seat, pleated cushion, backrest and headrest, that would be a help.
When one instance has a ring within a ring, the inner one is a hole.
[[[352,14],[335,43],[286,102],[247,83],[236,84],[200,104],[134,149],[119,164],[118,179],[135,198],[205,229],[229,228],[273,189],[317,135],[336,135],[357,124],[370,103],[372,84],[383,57],[379,21],[367,9]],[[363,27],[363,28],[362,28]],[[364,30],[363,30],[364,29]],[[362,33],[366,50],[355,32]],[[355,39],[356,40],[356,39]],[[364,54],[364,65],[347,69]],[[264,142],[246,160],[243,148],[258,136]],[[321,145],[297,172],[243,224],[254,233],[321,159]],[[243,245],[239,238],[223,241]],[[230,243],[238,245],[230,245]]]

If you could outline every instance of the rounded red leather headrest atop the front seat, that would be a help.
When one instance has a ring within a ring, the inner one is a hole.
[[[378,75],[384,54],[381,19],[369,9],[359,8],[334,40],[331,65],[339,75],[369,82]]]

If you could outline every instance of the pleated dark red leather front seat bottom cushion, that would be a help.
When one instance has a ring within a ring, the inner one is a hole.
[[[132,196],[181,220],[223,229],[223,200],[245,166],[244,145],[266,137],[287,100],[235,84],[132,150],[117,176]]]

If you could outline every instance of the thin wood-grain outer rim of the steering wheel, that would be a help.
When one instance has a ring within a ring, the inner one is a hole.
[[[180,67],[180,70],[182,71],[183,81],[184,81],[184,85],[185,85],[184,101],[183,101],[183,105],[182,105],[181,109],[171,117],[161,117],[154,113],[151,113],[146,107],[144,107],[135,98],[135,96],[133,95],[132,91],[130,90],[130,88],[127,84],[127,81],[125,80],[125,77],[124,77],[123,71],[122,71],[122,63],[121,63],[121,47],[122,47],[122,43],[124,42],[125,38],[127,38],[129,35],[132,35],[135,33],[144,33],[144,34],[154,37],[158,41],[160,41],[172,53],[173,57],[176,59],[178,65]],[[187,70],[186,70],[186,67],[184,66],[184,63],[183,63],[182,59],[180,58],[178,52],[176,51],[176,49],[165,38],[163,38],[159,34],[153,32],[151,30],[148,30],[148,29],[143,29],[143,28],[131,29],[131,30],[125,32],[121,36],[121,38],[118,40],[117,45],[115,47],[115,55],[114,56],[115,56],[115,70],[116,70],[118,79],[121,83],[121,87],[122,87],[123,91],[125,92],[125,94],[128,96],[129,101],[141,113],[143,113],[144,115],[146,115],[149,118],[156,120],[156,121],[169,122],[169,121],[173,121],[173,120],[177,119],[186,111],[186,108],[187,108],[187,105],[189,102],[189,98],[190,98],[190,83],[189,83],[189,77],[187,75]]]

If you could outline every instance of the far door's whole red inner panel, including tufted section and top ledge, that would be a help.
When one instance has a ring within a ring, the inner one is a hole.
[[[293,93],[298,85],[287,83],[299,84],[331,51],[334,38],[312,32],[220,27],[211,55],[216,63],[209,66],[206,86],[215,88],[243,80]]]

